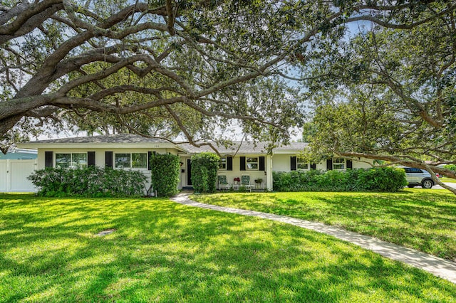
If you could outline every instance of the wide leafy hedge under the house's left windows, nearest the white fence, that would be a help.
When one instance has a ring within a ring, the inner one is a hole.
[[[105,169],[46,168],[28,176],[39,188],[38,196],[47,197],[138,197],[144,194],[145,176],[140,171]]]

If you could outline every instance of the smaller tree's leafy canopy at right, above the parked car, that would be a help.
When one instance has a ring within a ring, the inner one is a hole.
[[[383,160],[456,178],[442,167],[456,163],[456,16],[454,10],[437,18],[436,11],[423,14],[427,22],[406,30],[361,29],[338,45],[337,55],[314,61],[314,78],[306,80],[317,129],[314,154]]]

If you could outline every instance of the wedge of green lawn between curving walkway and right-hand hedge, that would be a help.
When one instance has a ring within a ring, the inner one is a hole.
[[[445,190],[219,193],[192,198],[219,206],[318,221],[456,260],[456,196]]]

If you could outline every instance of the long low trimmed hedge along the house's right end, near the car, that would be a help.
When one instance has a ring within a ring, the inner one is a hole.
[[[274,191],[385,191],[407,186],[405,171],[393,167],[346,171],[273,172]]]

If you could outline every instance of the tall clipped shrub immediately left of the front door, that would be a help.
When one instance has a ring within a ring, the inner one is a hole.
[[[177,193],[179,184],[179,156],[155,154],[150,158],[152,187],[159,197],[170,197]]]

